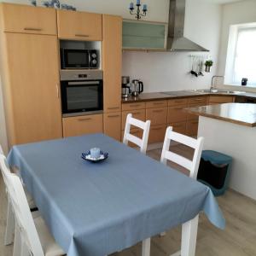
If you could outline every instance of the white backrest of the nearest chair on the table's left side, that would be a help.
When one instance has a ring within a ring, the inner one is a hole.
[[[9,167],[7,166],[6,159],[3,155],[0,155],[0,167],[15,212],[16,224],[18,224],[32,254],[44,256],[44,251],[33,222],[32,213],[28,206],[28,202],[26,201],[25,191],[21,184],[20,177],[9,171]]]

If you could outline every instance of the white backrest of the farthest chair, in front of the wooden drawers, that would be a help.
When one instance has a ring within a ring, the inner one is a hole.
[[[143,138],[136,137],[130,133],[131,125],[134,125],[143,130]],[[134,119],[131,113],[127,114],[125,133],[123,143],[126,145],[128,142],[136,144],[143,154],[146,154],[148,146],[148,135],[149,135],[150,121],[143,122],[138,119]]]

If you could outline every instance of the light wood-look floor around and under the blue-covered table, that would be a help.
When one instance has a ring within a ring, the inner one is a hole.
[[[189,148],[175,146],[175,151],[191,156]],[[160,159],[160,150],[152,150],[148,155]],[[175,166],[177,167],[177,166]],[[182,168],[179,168],[183,172]],[[256,255],[256,201],[230,190],[218,198],[218,203],[226,218],[226,229],[218,230],[201,214],[197,237],[197,256],[255,256]],[[5,229],[6,196],[3,180],[0,178],[0,255],[11,256],[12,246],[3,246]],[[181,229],[177,227],[166,236],[156,236],[151,242],[151,256],[166,256],[180,247]],[[141,243],[114,256],[139,256]],[[84,256],[84,255],[81,255]]]

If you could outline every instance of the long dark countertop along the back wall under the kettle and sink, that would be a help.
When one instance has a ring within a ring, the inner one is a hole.
[[[145,92],[135,97],[130,96],[129,98],[122,99],[122,103],[132,102],[148,102],[156,100],[168,100],[184,97],[198,97],[198,96],[247,96],[256,98],[256,93],[234,91],[234,93],[224,92],[224,90],[218,90],[218,92],[209,92],[207,90],[177,90],[177,91],[166,91],[166,92]]]

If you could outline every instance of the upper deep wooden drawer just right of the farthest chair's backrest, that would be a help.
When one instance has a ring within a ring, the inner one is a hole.
[[[166,125],[167,108],[146,109],[146,120],[150,120],[151,125]]]

